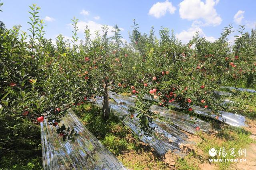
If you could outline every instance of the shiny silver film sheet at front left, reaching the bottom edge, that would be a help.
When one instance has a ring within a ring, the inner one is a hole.
[[[62,141],[56,127],[45,119],[41,123],[44,170],[125,170],[126,168],[84,127],[70,109],[61,124],[74,128],[80,136],[75,142]]]

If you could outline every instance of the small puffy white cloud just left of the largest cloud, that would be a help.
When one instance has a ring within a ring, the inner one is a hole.
[[[166,0],[165,2],[157,2],[154,4],[148,14],[151,16],[154,16],[156,18],[160,18],[166,14],[167,11],[170,12],[170,14],[174,14],[176,8],[172,6],[172,2],[169,2]]]

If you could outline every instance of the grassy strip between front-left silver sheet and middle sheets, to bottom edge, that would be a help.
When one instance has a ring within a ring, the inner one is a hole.
[[[114,113],[104,121],[100,108],[85,104],[74,109],[86,128],[127,168],[169,169],[162,158],[134,136]]]

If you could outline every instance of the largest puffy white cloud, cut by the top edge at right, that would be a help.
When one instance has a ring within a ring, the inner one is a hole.
[[[208,25],[220,25],[222,19],[217,14],[214,6],[218,4],[219,0],[183,0],[180,2],[180,18],[187,20],[196,20],[194,25],[208,26]],[[203,20],[198,21],[198,20]],[[200,24],[198,24],[200,23]]]

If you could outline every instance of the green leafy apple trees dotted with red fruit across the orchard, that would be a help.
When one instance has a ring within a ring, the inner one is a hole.
[[[0,7],[2,5],[0,3]],[[253,94],[243,94],[238,99],[253,98],[251,101],[225,106],[224,98],[214,93],[220,86],[255,88],[255,30],[251,34],[244,33],[244,26],[241,26],[234,45],[230,45],[227,38],[232,33],[232,25],[225,27],[213,43],[196,33],[188,44],[182,44],[173,30],[162,27],[158,39],[154,27],[147,35],[140,32],[138,23],[133,20],[130,43],[123,41],[117,25],[111,30],[113,36],[108,35],[109,27],[104,25],[103,34],[96,31],[94,39],[86,26],[85,37],[78,42],[78,19],[74,17],[71,41],[64,40],[60,34],[54,45],[52,39],[44,38],[46,25],[40,19],[40,8],[35,4],[29,8],[28,33],[21,31],[20,25],[6,29],[0,22],[0,121],[3,123],[0,130],[6,141],[28,137],[30,133],[38,135],[38,117],[47,116],[48,123],[56,125],[68,109],[82,107],[95,96],[107,98],[108,87],[113,92],[130,92],[137,96],[136,106],[130,109],[128,116],[132,119],[137,114],[140,128],[146,135],[152,135],[149,123],[159,115],[149,111],[152,102],[143,98],[145,94],[163,107],[178,102],[188,114],[193,114],[196,105],[211,109],[212,114],[233,109],[255,118],[255,109],[251,108],[255,107]],[[96,115],[92,121],[100,136],[106,135],[100,123],[108,122],[102,121],[101,116]],[[92,118],[92,115],[86,116],[86,119]],[[25,128],[28,125],[29,128]],[[56,133],[63,140],[74,141],[78,136],[74,127],[59,127]],[[106,143],[113,140],[109,136]],[[31,141],[31,146],[40,149],[36,141],[39,137]],[[10,149],[13,145],[0,144],[0,147]],[[17,155],[21,154],[13,156]],[[6,160],[1,159],[1,164],[11,167]],[[32,162],[36,161],[37,158]],[[24,166],[37,167],[31,162]]]

